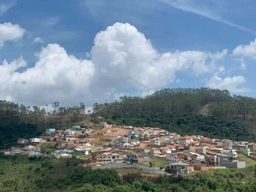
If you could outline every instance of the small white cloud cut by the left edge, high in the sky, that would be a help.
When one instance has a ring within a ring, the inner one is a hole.
[[[18,24],[12,24],[10,22],[0,24],[0,48],[4,46],[4,42],[21,39],[24,36],[26,30],[21,28]]]

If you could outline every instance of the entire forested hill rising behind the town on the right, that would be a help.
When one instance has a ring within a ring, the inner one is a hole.
[[[208,115],[200,115],[208,105]],[[120,101],[94,104],[94,121],[157,126],[181,134],[255,141],[256,99],[230,96],[228,90],[166,88],[152,95],[121,97]]]

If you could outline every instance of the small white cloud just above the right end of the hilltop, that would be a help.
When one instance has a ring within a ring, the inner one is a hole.
[[[250,89],[244,87],[246,84],[246,78],[243,76],[226,77],[222,79],[218,74],[215,74],[210,78],[207,87],[217,88],[221,90],[229,90],[230,92],[248,92]]]

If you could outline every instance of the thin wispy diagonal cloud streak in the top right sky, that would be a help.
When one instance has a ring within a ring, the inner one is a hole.
[[[233,22],[230,22],[228,20],[225,20],[224,18],[222,18],[221,16],[219,16],[218,14],[215,14],[212,10],[213,8],[208,8],[205,4],[202,4],[204,2],[200,1],[195,1],[195,0],[160,0],[161,2],[168,4],[174,8],[180,9],[180,10],[184,10],[187,12],[192,12],[194,14],[198,14],[200,16],[203,16],[205,18],[217,21],[217,22],[221,22],[223,24],[226,24],[228,26],[232,26],[235,28],[238,28],[240,30],[244,30],[246,32],[249,32],[251,34],[256,34],[256,32],[254,32],[253,30],[246,28],[244,26],[235,24]],[[212,0],[212,1],[207,1],[210,4],[214,4],[217,3],[218,5],[218,9],[220,7],[222,7],[221,5],[219,5],[219,3],[221,3],[220,1],[216,1],[216,0]]]

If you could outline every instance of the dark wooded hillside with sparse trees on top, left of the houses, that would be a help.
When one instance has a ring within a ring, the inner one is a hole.
[[[0,149],[17,143],[17,138],[32,138],[45,132],[46,128],[65,128],[84,118],[85,105],[60,107],[53,102],[48,106],[24,106],[0,100]],[[68,117],[67,117],[68,116]]]

